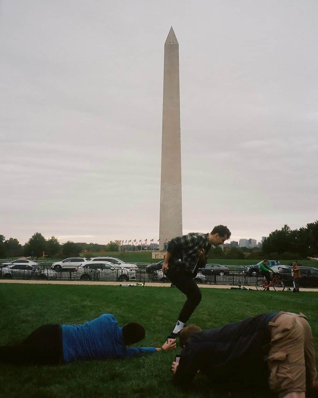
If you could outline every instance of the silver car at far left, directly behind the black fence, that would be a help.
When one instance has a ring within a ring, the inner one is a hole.
[[[2,275],[5,279],[23,277],[23,279],[56,279],[58,274],[50,268],[43,268],[39,265],[14,264],[2,268]]]

